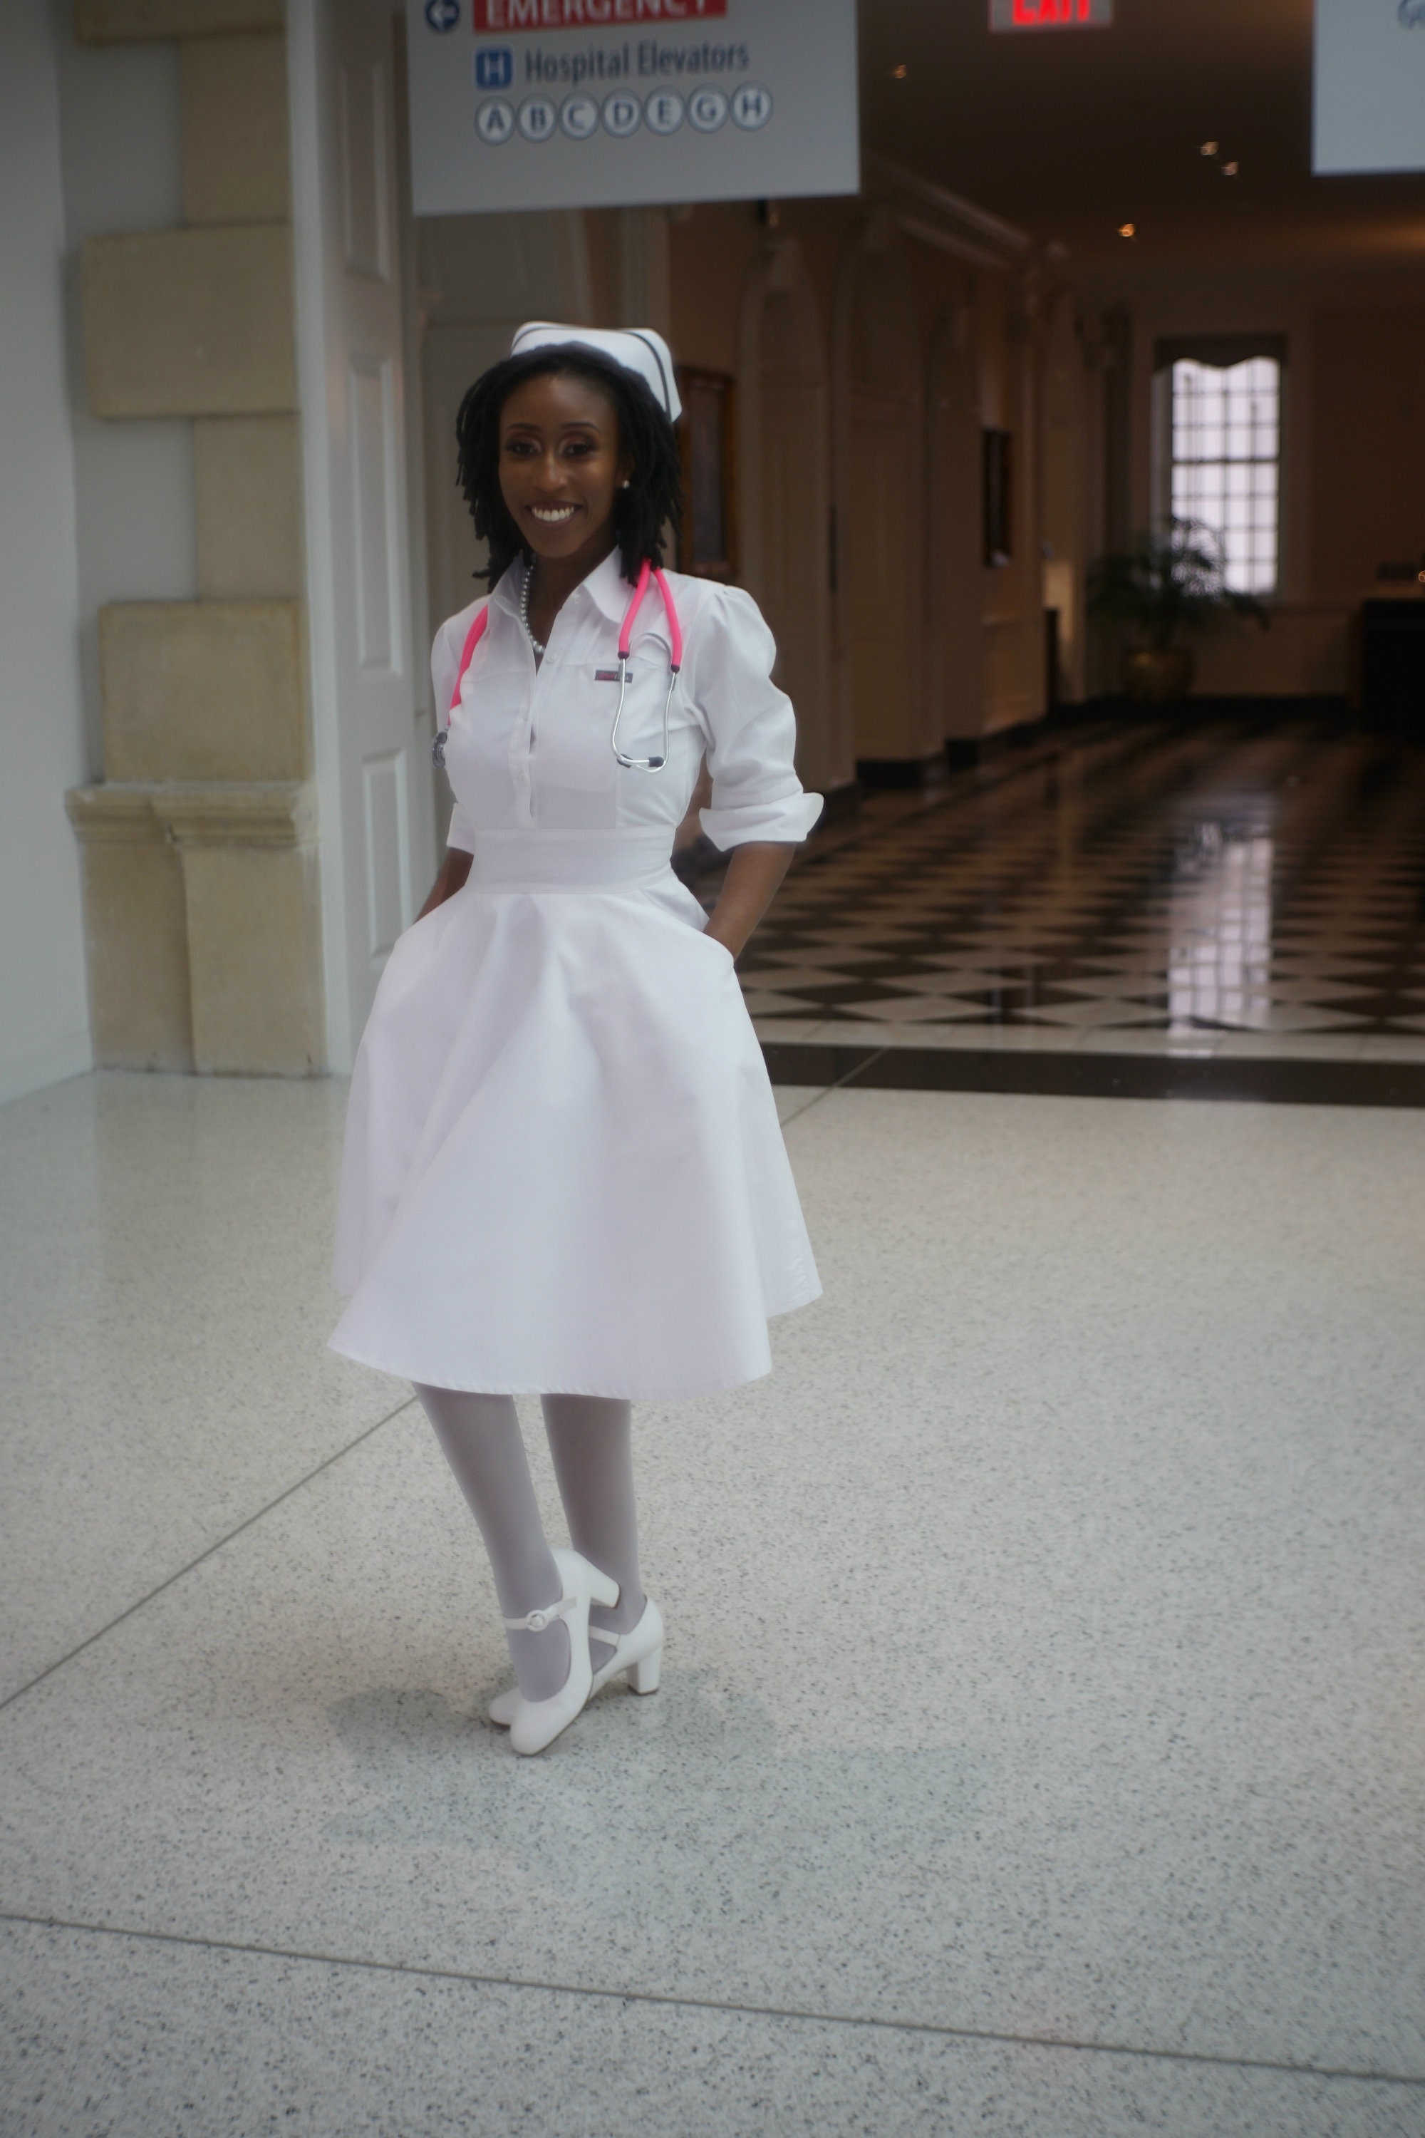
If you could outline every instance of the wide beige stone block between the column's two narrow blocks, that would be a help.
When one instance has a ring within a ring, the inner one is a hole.
[[[90,237],[83,346],[100,417],[295,408],[291,231],[246,222]]]

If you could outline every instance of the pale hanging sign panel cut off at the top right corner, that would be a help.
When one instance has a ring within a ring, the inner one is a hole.
[[[1425,171],[1425,0],[1316,0],[1312,169]]]

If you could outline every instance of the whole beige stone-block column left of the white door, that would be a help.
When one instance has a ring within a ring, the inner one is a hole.
[[[100,616],[83,842],[94,1043],[124,1067],[323,1067],[286,43],[280,0],[75,0],[83,43],[177,38],[179,231],[96,237],[88,402],[190,417],[199,601]]]

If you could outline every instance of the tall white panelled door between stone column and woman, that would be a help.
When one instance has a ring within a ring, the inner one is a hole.
[[[297,355],[327,1050],[348,1069],[434,874],[412,644],[402,186],[389,0],[293,0]]]

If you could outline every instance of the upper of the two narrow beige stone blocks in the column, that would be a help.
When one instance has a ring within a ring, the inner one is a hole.
[[[286,45],[209,36],[182,47],[184,220],[286,222]]]

